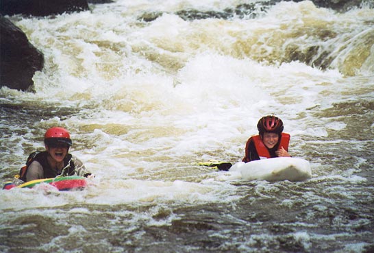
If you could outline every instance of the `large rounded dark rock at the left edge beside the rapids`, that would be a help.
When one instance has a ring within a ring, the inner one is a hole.
[[[44,56],[27,40],[26,35],[0,15],[0,87],[25,91],[42,70]]]

